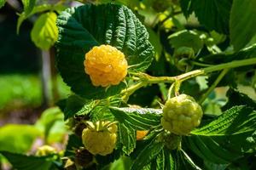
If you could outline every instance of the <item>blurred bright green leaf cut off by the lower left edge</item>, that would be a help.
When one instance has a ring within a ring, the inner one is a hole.
[[[43,136],[37,127],[9,124],[0,127],[0,150],[24,153],[31,149],[34,140]]]

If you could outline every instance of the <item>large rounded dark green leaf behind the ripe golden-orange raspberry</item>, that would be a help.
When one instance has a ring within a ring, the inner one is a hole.
[[[131,65],[130,71],[144,71],[154,58],[146,28],[125,6],[88,4],[68,8],[58,17],[57,26],[57,66],[61,77],[74,93],[87,99],[104,99],[125,88],[124,82],[109,88],[91,84],[84,72],[84,54],[92,47],[110,44],[118,48]]]

